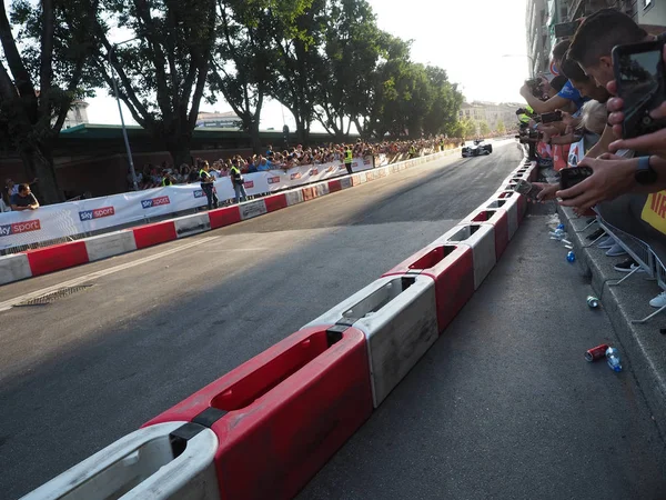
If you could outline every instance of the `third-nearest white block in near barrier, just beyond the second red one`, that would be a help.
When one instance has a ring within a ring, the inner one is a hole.
[[[436,243],[458,243],[472,248],[474,258],[474,290],[497,263],[495,253],[495,228],[492,224],[461,224],[453,228]]]

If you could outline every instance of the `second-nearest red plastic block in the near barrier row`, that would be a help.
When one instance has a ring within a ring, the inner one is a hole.
[[[474,253],[471,247],[430,244],[382,278],[423,274],[435,280],[440,334],[474,294]]]

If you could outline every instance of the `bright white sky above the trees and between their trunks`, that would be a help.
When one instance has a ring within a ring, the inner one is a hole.
[[[467,101],[521,102],[527,78],[525,6],[528,0],[369,0],[384,31],[413,40],[412,60],[444,68]],[[511,57],[505,57],[509,54]],[[88,99],[91,123],[120,123],[114,99],[104,90]],[[124,104],[123,104],[124,107]],[[230,111],[223,101],[201,111]],[[283,109],[264,104],[261,128],[281,130]],[[127,108],[125,123],[132,124]],[[284,110],[286,124],[295,122]],[[321,131],[313,124],[313,131]]]

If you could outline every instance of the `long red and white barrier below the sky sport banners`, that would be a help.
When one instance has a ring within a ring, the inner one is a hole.
[[[293,204],[383,179],[460,152],[460,148],[317,182],[204,213],[109,232],[92,238],[0,257],[0,286],[95,262],[271,213]]]

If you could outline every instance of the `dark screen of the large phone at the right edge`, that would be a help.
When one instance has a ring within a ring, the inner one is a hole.
[[[625,111],[625,138],[654,130],[649,112],[664,101],[662,50],[623,53],[618,66],[618,90]]]

